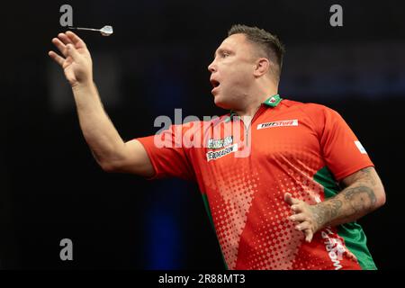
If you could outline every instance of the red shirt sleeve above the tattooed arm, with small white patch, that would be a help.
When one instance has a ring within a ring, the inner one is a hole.
[[[341,179],[363,169],[374,166],[365,148],[356,138],[355,133],[338,112],[322,106],[318,113],[320,120],[320,148],[327,166]]]

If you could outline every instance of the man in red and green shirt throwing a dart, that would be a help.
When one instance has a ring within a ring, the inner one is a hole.
[[[212,94],[229,114],[128,142],[103,110],[85,42],[71,31],[52,42],[100,166],[196,181],[229,269],[376,268],[356,220],[384,204],[383,184],[338,112],[280,97],[274,35],[234,25],[216,50]],[[203,145],[177,145],[179,133]]]

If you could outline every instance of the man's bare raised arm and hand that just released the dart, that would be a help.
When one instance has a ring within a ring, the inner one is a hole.
[[[52,43],[62,56],[49,51],[49,57],[63,68],[72,86],[81,130],[99,165],[108,172],[153,175],[153,166],[142,144],[138,140],[125,143],[104,111],[93,82],[92,58],[85,42],[67,31],[59,33]]]

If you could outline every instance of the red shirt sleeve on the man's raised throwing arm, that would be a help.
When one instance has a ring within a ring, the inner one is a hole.
[[[178,177],[194,180],[195,174],[189,158],[189,149],[184,148],[182,139],[183,125],[171,125],[161,133],[137,138],[148,153],[155,170],[155,175],[149,179]]]

